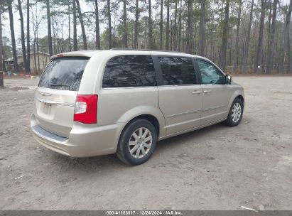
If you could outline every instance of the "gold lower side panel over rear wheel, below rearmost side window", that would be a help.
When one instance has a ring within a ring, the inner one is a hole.
[[[157,87],[108,88],[99,91],[97,124],[126,123],[142,114],[159,122],[160,134],[166,133],[163,114],[158,108]]]

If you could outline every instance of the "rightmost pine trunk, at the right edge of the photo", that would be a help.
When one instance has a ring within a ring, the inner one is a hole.
[[[284,35],[283,35],[283,52],[281,53],[281,64],[280,64],[281,72],[284,72],[285,63],[288,63],[288,68],[286,71],[291,72],[290,45],[288,45],[288,43],[290,43],[289,31],[290,31],[290,22],[291,22],[291,12],[292,12],[292,0],[290,0],[289,9],[288,9],[288,12],[286,13],[286,21],[285,21],[285,28],[284,28]]]

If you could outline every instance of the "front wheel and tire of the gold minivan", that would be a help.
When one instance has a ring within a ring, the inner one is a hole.
[[[235,98],[229,110],[226,123],[228,126],[237,126],[242,121],[244,106],[242,100]]]

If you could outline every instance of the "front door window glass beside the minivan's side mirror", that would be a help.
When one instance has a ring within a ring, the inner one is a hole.
[[[224,75],[214,65],[205,60],[196,59],[200,68],[202,84],[224,84]]]

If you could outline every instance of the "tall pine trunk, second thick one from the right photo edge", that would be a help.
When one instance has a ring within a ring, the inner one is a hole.
[[[271,35],[269,36],[268,52],[266,59],[266,73],[271,73],[274,65],[274,45],[275,45],[275,27],[276,27],[276,15],[277,15],[277,3],[278,0],[274,0],[273,3],[273,17],[271,23]]]

